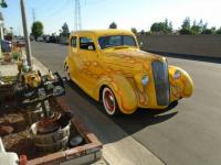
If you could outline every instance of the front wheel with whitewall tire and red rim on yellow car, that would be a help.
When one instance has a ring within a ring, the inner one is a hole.
[[[119,114],[117,100],[113,91],[105,87],[102,92],[102,101],[106,113],[110,117]]]

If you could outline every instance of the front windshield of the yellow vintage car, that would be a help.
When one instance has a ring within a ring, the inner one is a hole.
[[[109,35],[98,38],[102,50],[115,46],[137,46],[134,36],[131,35]]]

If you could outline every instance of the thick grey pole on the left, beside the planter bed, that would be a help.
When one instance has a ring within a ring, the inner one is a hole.
[[[32,69],[31,45],[30,45],[29,31],[28,31],[28,25],[27,25],[27,13],[25,13],[24,0],[20,0],[20,6],[21,6],[23,33],[24,33],[24,40],[25,40],[27,62],[28,62],[28,65],[30,66],[30,68]]]

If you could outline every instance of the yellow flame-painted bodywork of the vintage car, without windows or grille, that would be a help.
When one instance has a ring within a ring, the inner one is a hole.
[[[131,35],[131,32],[119,30],[105,31],[78,31],[73,36],[86,36],[93,40],[96,51],[80,50],[70,44],[69,55],[65,58],[65,67],[71,70],[71,79],[75,81],[87,95],[95,100],[101,99],[104,86],[109,87],[123,113],[129,114],[140,108],[164,109],[156,100],[155,81],[151,70],[151,62],[167,63],[165,57],[140,51],[138,46],[116,47],[101,50],[98,37],[106,35]],[[137,41],[136,41],[137,43]],[[138,45],[138,44],[137,44]],[[173,79],[176,70],[181,72],[179,79]],[[192,95],[193,82],[190,76],[181,68],[169,66],[170,102],[187,98]],[[147,86],[141,85],[141,78],[148,75]]]

